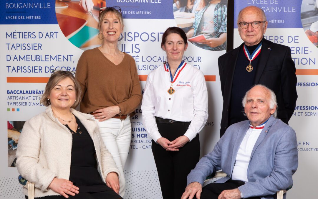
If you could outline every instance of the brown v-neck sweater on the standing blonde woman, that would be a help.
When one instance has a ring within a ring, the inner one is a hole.
[[[82,89],[81,112],[118,105],[122,114],[128,114],[141,102],[136,63],[127,53],[115,65],[98,48],[86,50],[79,58],[75,78]]]

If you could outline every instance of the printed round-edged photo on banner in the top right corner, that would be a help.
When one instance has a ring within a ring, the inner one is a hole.
[[[301,24],[308,39],[318,47],[318,0],[302,1]]]

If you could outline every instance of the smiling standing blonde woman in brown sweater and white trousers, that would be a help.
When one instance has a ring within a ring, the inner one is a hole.
[[[118,49],[123,31],[120,7],[100,9],[100,47],[79,58],[76,79],[82,90],[80,110],[94,115],[101,137],[121,173],[119,195],[125,194],[123,168],[128,156],[131,124],[129,116],[141,102],[135,60]]]

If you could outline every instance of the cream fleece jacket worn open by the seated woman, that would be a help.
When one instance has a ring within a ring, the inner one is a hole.
[[[93,139],[101,179],[105,182],[110,172],[116,172],[120,178],[113,157],[100,138],[93,116],[74,109],[71,112],[79,118]],[[17,169],[26,180],[34,183],[34,197],[59,195],[48,186],[55,177],[69,179],[72,139],[67,127],[53,117],[51,106],[25,122],[17,147]],[[27,189],[23,189],[27,195]]]

